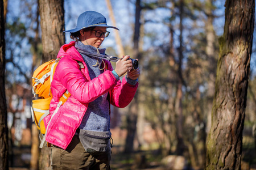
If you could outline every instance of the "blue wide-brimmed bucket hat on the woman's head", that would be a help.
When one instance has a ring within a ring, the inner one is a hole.
[[[107,25],[106,18],[102,14],[95,11],[86,11],[79,15],[75,29],[69,29],[64,32],[77,32],[89,27],[106,27],[119,30],[117,27]]]

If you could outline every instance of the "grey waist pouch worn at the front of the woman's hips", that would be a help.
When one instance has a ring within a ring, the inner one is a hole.
[[[79,139],[86,152],[100,154],[110,151],[110,131],[92,131],[80,129]]]

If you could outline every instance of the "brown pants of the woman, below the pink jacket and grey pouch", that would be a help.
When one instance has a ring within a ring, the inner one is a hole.
[[[82,146],[79,136],[75,135],[66,150],[51,147],[52,169],[110,169],[110,151],[89,154]]]

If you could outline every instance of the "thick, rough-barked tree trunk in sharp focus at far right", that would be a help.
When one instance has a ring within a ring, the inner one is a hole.
[[[241,169],[254,0],[227,0],[220,38],[212,127],[207,139],[207,169]]]

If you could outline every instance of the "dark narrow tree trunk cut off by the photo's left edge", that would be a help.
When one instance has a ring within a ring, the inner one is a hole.
[[[5,97],[5,17],[0,1],[0,169],[8,168],[8,128]]]

